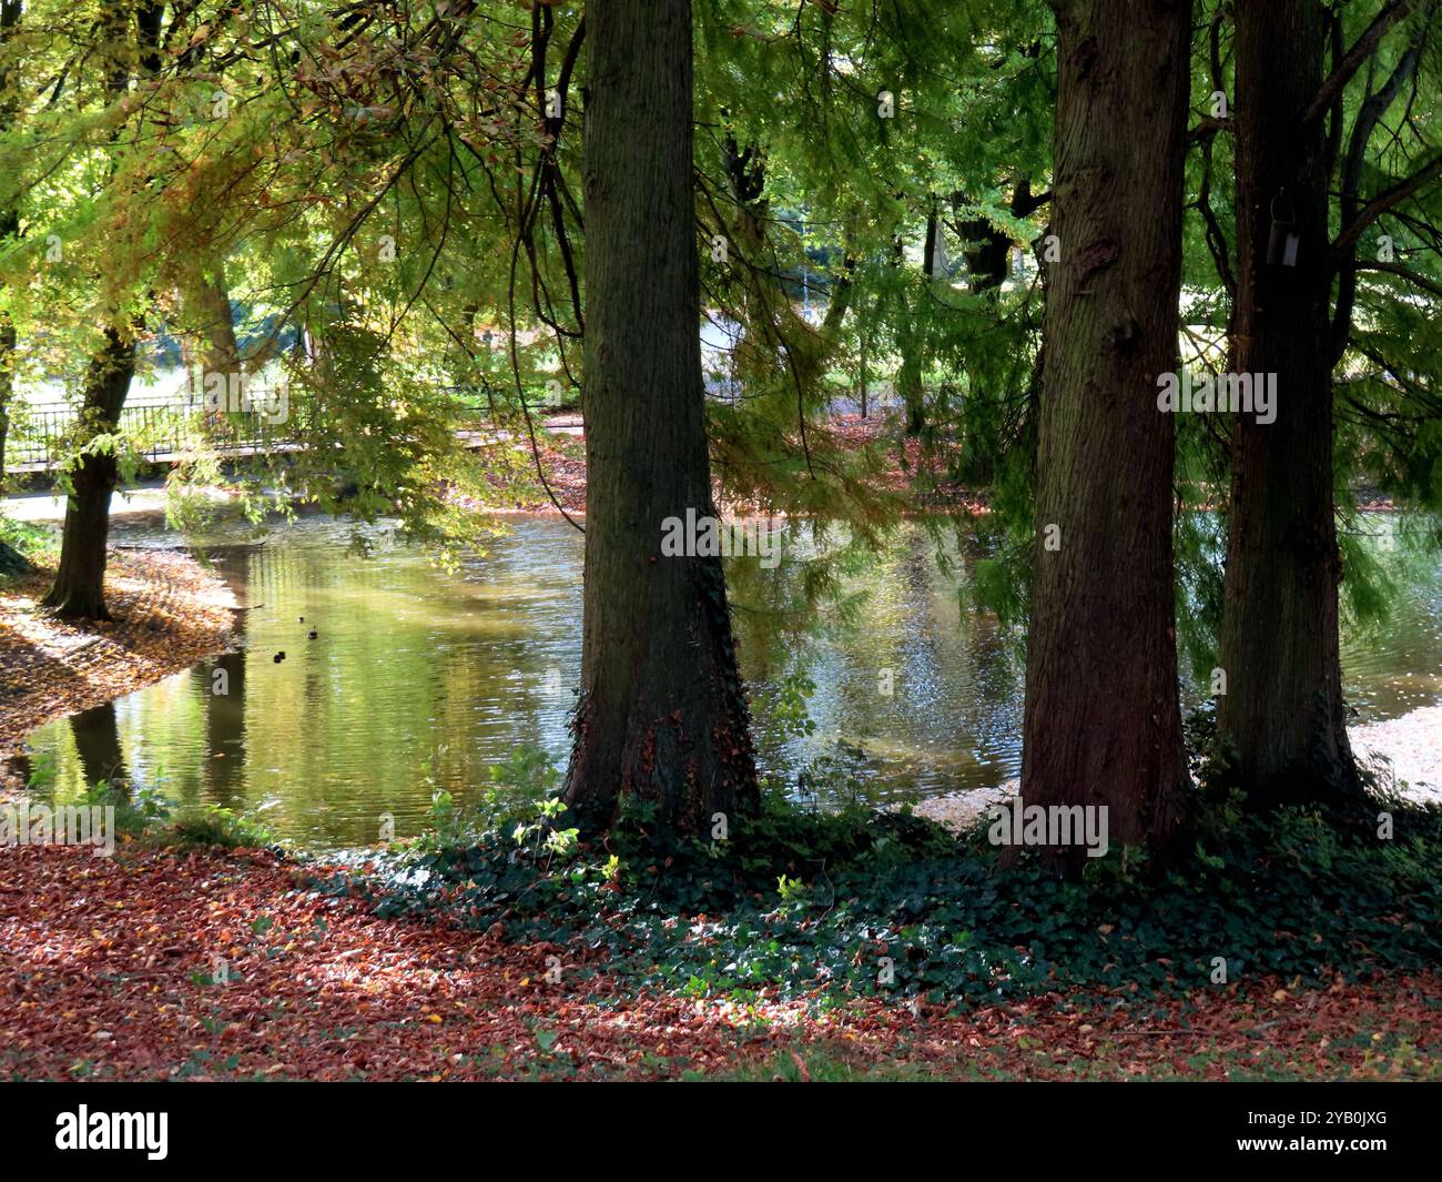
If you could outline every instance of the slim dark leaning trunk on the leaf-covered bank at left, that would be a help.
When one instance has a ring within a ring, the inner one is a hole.
[[[136,346],[130,335],[111,325],[105,343],[91,361],[81,408],[85,439],[114,433],[136,372]],[[65,504],[65,537],[61,566],[42,608],[61,619],[110,619],[105,610],[105,541],[110,535],[110,498],[120,466],[112,452],[87,453],[72,476],[74,491]]]

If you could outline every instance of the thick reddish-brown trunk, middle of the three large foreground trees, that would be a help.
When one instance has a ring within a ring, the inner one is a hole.
[[[1171,416],[1191,6],[1057,3],[1054,232],[1021,795],[1107,808],[1154,850],[1182,820]],[[1048,847],[1076,870],[1077,847]]]

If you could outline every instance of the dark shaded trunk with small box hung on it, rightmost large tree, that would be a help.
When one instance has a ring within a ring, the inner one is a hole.
[[[1237,302],[1231,368],[1276,375],[1276,420],[1242,414],[1231,456],[1218,737],[1249,801],[1357,789],[1337,635],[1327,144],[1302,113],[1322,82],[1317,0],[1237,6]],[[1296,264],[1268,261],[1273,203]]]

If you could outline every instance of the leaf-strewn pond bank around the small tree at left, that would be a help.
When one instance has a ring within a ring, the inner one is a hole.
[[[195,559],[170,550],[111,550],[112,623],[63,622],[36,608],[53,570],[0,586],[0,762],[50,719],[159,681],[221,652],[235,599]]]

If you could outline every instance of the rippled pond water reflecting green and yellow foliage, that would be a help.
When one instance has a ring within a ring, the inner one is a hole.
[[[986,546],[969,527],[956,533],[939,550],[920,525],[900,527],[883,554],[846,572],[852,610],[832,612],[820,635],[758,639],[764,629],[748,621],[764,612],[743,612],[766,771],[822,794],[845,779],[868,800],[1018,775],[1019,645],[962,606],[957,590]],[[313,847],[371,844],[381,814],[412,834],[437,788],[464,800],[523,746],[564,766],[581,664],[581,535],[519,518],[454,572],[384,533],[371,557],[349,540],[348,525],[324,518],[258,541],[215,527],[196,553],[249,608],[236,649],[35,732],[32,761],[61,794],[118,771],[182,807],[261,810],[281,837]],[[140,517],[117,520],[114,541],[179,540]],[[1343,660],[1364,722],[1442,701],[1442,566],[1413,567],[1390,619],[1348,634]],[[774,706],[795,673],[813,686],[810,733]],[[828,765],[831,776],[815,775]]]

